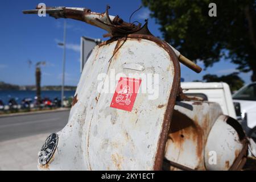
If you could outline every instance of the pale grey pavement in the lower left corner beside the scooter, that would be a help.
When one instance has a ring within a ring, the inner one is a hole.
[[[37,155],[48,135],[38,134],[0,142],[0,170],[37,170]]]

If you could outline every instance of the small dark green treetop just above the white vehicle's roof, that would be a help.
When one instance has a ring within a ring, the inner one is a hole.
[[[224,76],[220,76],[218,77],[217,75],[210,75],[207,74],[205,76],[203,76],[203,80],[205,82],[226,82],[231,91],[235,91],[240,89],[243,84],[245,83],[239,76],[238,73],[231,73],[229,75],[224,75]]]

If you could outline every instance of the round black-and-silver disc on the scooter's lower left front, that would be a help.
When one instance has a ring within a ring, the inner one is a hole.
[[[56,133],[53,133],[47,137],[44,142],[41,151],[38,152],[38,163],[45,165],[51,160],[58,144],[59,137]]]

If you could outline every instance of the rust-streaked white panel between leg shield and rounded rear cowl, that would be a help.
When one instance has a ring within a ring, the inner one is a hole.
[[[193,170],[205,170],[204,146],[220,114],[221,108],[215,103],[176,102],[165,158]]]

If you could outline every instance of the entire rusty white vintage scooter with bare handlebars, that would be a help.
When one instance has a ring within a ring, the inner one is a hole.
[[[86,61],[68,124],[47,138],[38,168],[242,169],[250,142],[241,125],[217,103],[182,93],[179,61],[197,73],[201,68],[152,35],[147,22],[127,23],[108,10],[46,8],[54,18],[103,28],[110,39]]]

